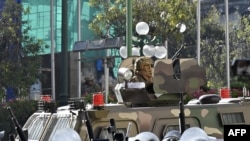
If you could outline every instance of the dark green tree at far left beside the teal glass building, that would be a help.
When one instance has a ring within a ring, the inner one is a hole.
[[[29,36],[31,27],[22,20],[28,12],[15,0],[6,0],[0,15],[0,98],[7,87],[16,90],[17,97],[27,96],[39,77],[43,42]]]

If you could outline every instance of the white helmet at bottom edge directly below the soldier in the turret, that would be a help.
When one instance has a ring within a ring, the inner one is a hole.
[[[160,141],[159,138],[152,132],[141,132],[129,141]]]

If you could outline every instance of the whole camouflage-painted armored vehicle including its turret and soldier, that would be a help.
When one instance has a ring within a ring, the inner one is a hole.
[[[204,132],[203,140],[215,141],[223,140],[224,125],[250,124],[247,96],[208,94],[183,104],[186,93],[206,82],[205,69],[195,59],[130,57],[121,63],[118,81],[118,104],[85,104],[79,98],[53,110],[52,102],[41,101],[43,108],[27,120],[21,136],[29,141],[188,141],[181,137],[196,127],[197,136]],[[177,134],[170,138],[172,131]],[[16,140],[23,141],[20,135]]]

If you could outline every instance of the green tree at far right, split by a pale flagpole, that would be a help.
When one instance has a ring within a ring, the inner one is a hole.
[[[249,18],[242,17],[235,12],[234,19],[228,23],[230,61],[234,58],[249,58],[250,56]],[[214,6],[201,20],[201,65],[206,68],[210,87],[226,86],[225,21],[223,15]],[[238,78],[231,75],[231,84],[239,81]]]

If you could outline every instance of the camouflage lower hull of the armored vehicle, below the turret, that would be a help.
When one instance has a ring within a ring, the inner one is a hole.
[[[248,112],[249,98],[221,99],[215,104],[187,104],[184,106],[185,129],[199,127],[207,135],[223,139],[224,125],[250,124]],[[116,132],[129,137],[149,131],[159,139],[171,130],[180,128],[179,106],[161,107],[127,107],[124,104],[107,104],[104,109],[87,109],[89,118],[82,117],[80,109],[64,106],[54,113],[38,111],[26,122],[23,128],[28,129],[28,140],[52,141],[57,130],[74,129],[81,140],[89,139],[88,120],[91,124],[94,139],[109,139],[110,119],[115,119]],[[128,131],[129,130],[129,131]]]

